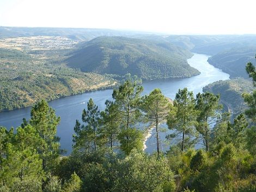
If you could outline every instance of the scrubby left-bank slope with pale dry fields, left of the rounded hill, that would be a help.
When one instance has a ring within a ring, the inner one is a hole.
[[[0,41],[0,111],[40,99],[111,87],[114,81],[61,63],[75,43],[63,37],[19,37]]]

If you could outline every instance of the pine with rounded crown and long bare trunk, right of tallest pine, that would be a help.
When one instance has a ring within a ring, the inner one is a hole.
[[[154,125],[156,129],[156,149],[157,155],[159,156],[160,125],[166,122],[173,107],[170,101],[164,97],[158,88],[154,89],[149,95],[145,95],[142,103],[142,109],[145,112],[147,121],[150,122],[151,125]]]

